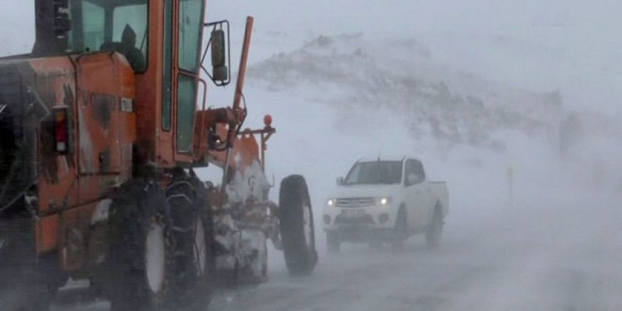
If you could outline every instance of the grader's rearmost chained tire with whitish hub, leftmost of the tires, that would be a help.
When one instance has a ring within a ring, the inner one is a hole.
[[[170,207],[157,182],[127,184],[112,203],[111,310],[166,310],[175,295]]]

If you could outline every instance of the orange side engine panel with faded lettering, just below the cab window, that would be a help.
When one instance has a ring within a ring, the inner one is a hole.
[[[76,57],[78,64],[78,154],[82,174],[119,174],[124,143],[134,141],[134,72],[120,54]],[[124,122],[126,121],[126,122]]]

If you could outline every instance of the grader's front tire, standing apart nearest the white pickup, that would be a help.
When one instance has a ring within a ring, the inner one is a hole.
[[[281,182],[281,239],[287,269],[292,276],[307,276],[317,264],[313,211],[305,178],[291,175]]]

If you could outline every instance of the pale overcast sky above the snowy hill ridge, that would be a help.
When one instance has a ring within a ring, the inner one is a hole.
[[[229,18],[241,29],[246,15],[255,16],[259,40],[266,31],[289,34],[291,41],[341,33],[436,40],[433,54],[447,66],[522,88],[561,89],[575,107],[621,111],[621,1],[210,1],[211,20]],[[477,40],[494,36],[512,44]]]

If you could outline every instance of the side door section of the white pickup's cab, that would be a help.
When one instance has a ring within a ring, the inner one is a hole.
[[[432,194],[421,161],[407,159],[404,163],[404,187],[409,225],[411,229],[421,230],[428,225],[427,216],[430,213],[428,210],[432,205]]]

